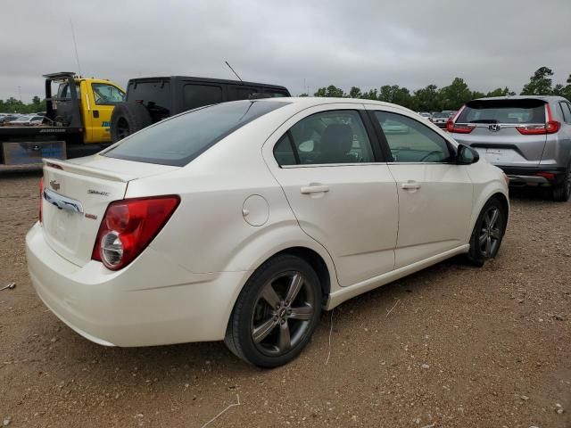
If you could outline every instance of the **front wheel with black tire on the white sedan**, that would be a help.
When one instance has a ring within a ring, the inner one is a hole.
[[[497,198],[485,203],[470,237],[470,264],[482,267],[486,260],[496,257],[506,231],[507,219],[507,212]]]

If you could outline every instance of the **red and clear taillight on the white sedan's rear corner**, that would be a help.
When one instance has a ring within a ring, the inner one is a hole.
[[[99,226],[91,259],[111,270],[126,267],[161,232],[179,202],[177,195],[112,202]]]

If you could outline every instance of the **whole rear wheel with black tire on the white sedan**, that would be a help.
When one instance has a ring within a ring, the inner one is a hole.
[[[224,342],[254,366],[282,366],[310,342],[320,313],[319,277],[310,264],[293,255],[277,256],[244,285]]]

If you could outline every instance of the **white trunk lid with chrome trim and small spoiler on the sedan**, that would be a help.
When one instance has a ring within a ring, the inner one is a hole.
[[[101,155],[44,160],[42,225],[46,242],[64,259],[84,266],[110,202],[123,199],[128,182],[178,169]]]

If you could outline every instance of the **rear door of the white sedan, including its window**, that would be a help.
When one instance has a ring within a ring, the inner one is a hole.
[[[287,120],[264,157],[302,230],[347,286],[394,268],[396,185],[362,104],[313,107]]]

